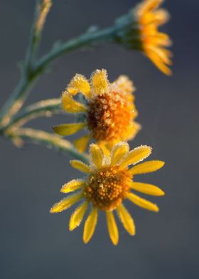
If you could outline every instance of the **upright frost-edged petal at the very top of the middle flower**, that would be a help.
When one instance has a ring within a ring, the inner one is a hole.
[[[106,93],[109,89],[109,81],[107,80],[107,71],[95,70],[91,76],[92,89],[95,94]]]

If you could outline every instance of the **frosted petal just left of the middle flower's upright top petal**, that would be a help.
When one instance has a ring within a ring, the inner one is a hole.
[[[67,90],[72,95],[83,93],[87,98],[90,98],[90,84],[83,75],[76,74],[70,81]]]

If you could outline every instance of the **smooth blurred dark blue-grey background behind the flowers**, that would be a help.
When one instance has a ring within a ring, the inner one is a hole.
[[[35,1],[0,1],[1,105],[19,78],[16,64],[23,59]],[[41,53],[55,40],[65,41],[93,23],[107,26],[134,6],[134,0],[59,0],[45,25]],[[163,29],[174,41],[173,76],[166,77],[141,53],[119,46],[76,51],[59,58],[43,75],[27,103],[57,98],[72,75],[90,76],[106,68],[109,80],[124,73],[136,85],[138,121],[143,126],[131,147],[149,144],[152,158],[163,159],[161,171],[139,177],[161,186],[166,196],[151,198],[158,214],[127,202],[136,222],[131,238],[119,225],[117,247],[109,241],[100,214],[92,241],[82,243],[83,226],[68,231],[72,209],[50,215],[63,198],[60,186],[80,173],[68,158],[45,147],[26,144],[17,149],[0,139],[1,154],[1,268],[2,279],[53,278],[198,278],[198,0],[167,0],[171,22]],[[50,132],[68,116],[34,120],[31,127]]]

